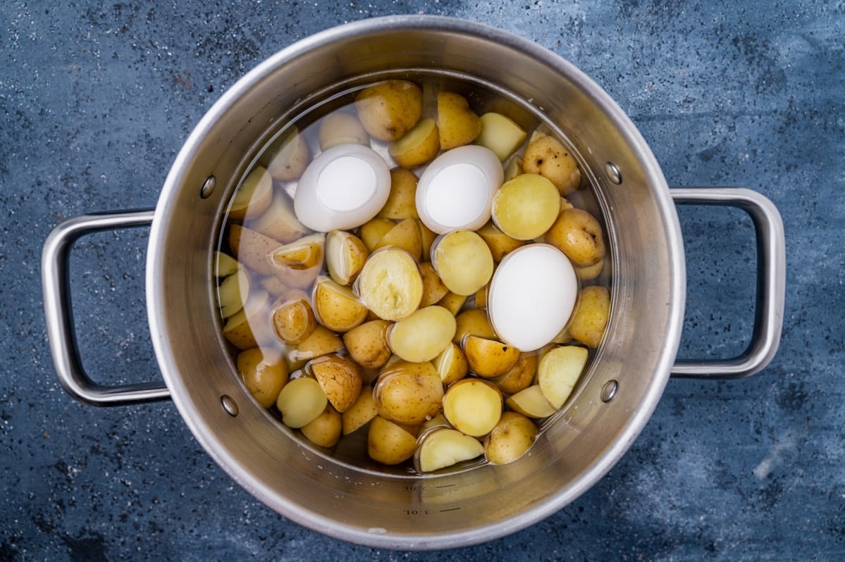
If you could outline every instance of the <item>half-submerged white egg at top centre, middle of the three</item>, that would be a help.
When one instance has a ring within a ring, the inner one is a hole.
[[[504,181],[499,157],[467,144],[433,159],[417,183],[417,213],[437,234],[477,230],[490,219],[493,195]]]

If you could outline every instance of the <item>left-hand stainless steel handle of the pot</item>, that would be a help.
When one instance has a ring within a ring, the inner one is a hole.
[[[74,241],[101,230],[147,226],[152,210],[87,214],[68,219],[52,230],[41,251],[41,284],[47,338],[59,382],[82,403],[117,406],[163,400],[170,397],[161,382],[104,386],[92,381],[82,366],[76,343],[74,313],[70,302],[69,255]]]

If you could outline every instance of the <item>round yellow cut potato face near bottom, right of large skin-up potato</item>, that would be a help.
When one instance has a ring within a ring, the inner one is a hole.
[[[499,387],[475,377],[455,382],[443,397],[443,415],[456,430],[473,437],[493,430],[503,406]]]

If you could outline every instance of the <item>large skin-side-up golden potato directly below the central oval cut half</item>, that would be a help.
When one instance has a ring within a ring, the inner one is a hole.
[[[400,359],[382,370],[373,397],[379,416],[400,424],[422,424],[440,411],[443,383],[430,362]]]

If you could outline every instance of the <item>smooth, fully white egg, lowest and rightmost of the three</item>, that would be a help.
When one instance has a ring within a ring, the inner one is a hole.
[[[487,312],[504,343],[534,351],[569,322],[578,296],[570,260],[554,246],[528,244],[504,257],[493,273]]]

